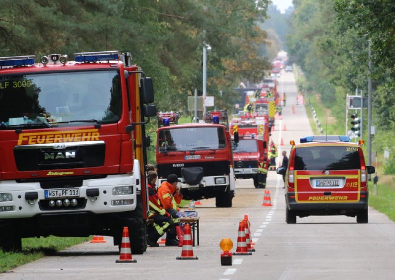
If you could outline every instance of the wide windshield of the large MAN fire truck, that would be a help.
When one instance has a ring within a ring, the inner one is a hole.
[[[0,76],[0,129],[118,122],[121,100],[117,70]]]

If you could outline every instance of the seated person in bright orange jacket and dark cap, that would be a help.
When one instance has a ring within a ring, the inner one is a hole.
[[[178,245],[182,246],[182,230],[179,226],[182,214],[178,208],[178,204],[180,204],[182,200],[182,194],[180,192],[181,188],[177,186],[179,182],[181,182],[181,180],[178,179],[177,175],[168,175],[167,181],[163,182],[158,188],[158,196],[163,208],[172,216],[173,221],[176,224],[177,236],[180,241]]]

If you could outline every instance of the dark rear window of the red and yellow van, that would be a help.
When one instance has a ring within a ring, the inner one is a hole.
[[[359,147],[301,147],[295,151],[295,170],[360,169]]]

